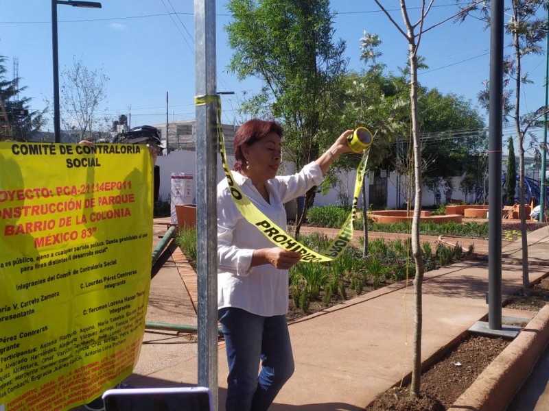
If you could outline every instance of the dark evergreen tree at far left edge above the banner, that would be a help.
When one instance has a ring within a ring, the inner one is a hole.
[[[14,140],[30,140],[45,124],[46,110],[31,110],[28,97],[19,97],[26,86],[19,87],[19,78],[5,78],[8,70],[5,68],[7,58],[0,55],[0,101],[5,109],[5,116],[0,115],[0,138]]]

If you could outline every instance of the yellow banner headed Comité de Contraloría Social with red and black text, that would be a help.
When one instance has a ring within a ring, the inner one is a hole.
[[[151,251],[145,146],[0,142],[0,410],[69,410],[130,375]]]

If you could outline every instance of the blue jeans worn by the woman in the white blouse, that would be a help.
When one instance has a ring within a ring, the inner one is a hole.
[[[219,319],[229,362],[225,411],[268,410],[294,373],[285,316],[264,317],[230,307],[219,310]]]

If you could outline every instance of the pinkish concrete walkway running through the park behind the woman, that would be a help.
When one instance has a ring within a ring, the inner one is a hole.
[[[165,225],[161,221],[155,223],[154,231],[161,236]],[[549,256],[548,242],[547,227],[528,236],[528,260],[534,262],[530,265],[530,282],[549,273],[549,266],[543,265]],[[504,299],[522,288],[519,249],[520,242],[503,247]],[[425,273],[424,361],[460,339],[477,321],[486,320],[487,264],[487,260],[469,260]],[[174,249],[172,258],[152,279],[147,321],[196,325],[193,305],[196,283],[195,288],[189,283],[193,279],[196,279],[194,271],[179,249]],[[363,410],[376,395],[411,372],[413,310],[412,287],[400,283],[292,323],[290,334],[296,371],[271,410]],[[503,314],[530,319],[536,313],[504,309]],[[138,387],[195,385],[198,353],[194,338],[174,332],[145,332],[131,384]],[[222,411],[227,374],[222,344],[218,364],[219,410]],[[522,380],[517,381],[514,390],[521,383]],[[481,407],[465,405],[459,409],[480,410]]]

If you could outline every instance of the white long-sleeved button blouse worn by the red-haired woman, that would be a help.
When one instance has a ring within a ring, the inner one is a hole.
[[[233,179],[263,214],[286,229],[284,203],[318,186],[323,175],[312,162],[297,174],[268,180],[270,203],[248,177],[233,171]],[[218,184],[218,308],[241,308],[261,316],[288,312],[288,270],[272,264],[250,267],[254,250],[271,247],[276,246],[240,214],[224,178]]]

